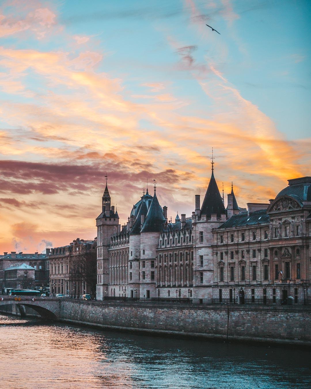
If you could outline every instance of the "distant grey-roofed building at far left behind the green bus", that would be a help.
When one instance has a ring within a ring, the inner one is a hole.
[[[47,248],[44,254],[24,254],[23,252],[16,253],[11,251],[10,254],[4,252],[0,256],[0,290],[7,287],[42,287],[49,285],[49,253]],[[29,269],[24,268],[27,277],[20,276],[23,266],[30,266]],[[14,268],[14,270],[13,270]],[[14,278],[16,276],[16,278]],[[7,278],[9,277],[9,278]],[[26,278],[26,279],[25,279]],[[17,286],[23,284],[24,286]],[[13,285],[13,286],[12,286]]]

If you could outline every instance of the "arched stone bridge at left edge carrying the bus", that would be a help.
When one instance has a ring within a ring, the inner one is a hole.
[[[6,305],[16,305],[22,317],[25,316],[23,307],[29,307],[35,310],[43,319],[58,320],[60,317],[61,298],[0,296],[0,309]]]

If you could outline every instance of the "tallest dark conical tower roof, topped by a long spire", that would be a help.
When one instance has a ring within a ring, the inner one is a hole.
[[[217,214],[217,217],[220,217],[220,215],[224,213],[225,207],[222,202],[217,182],[214,177],[214,170],[212,168],[211,179],[202,203],[200,216],[206,215],[207,217],[211,217],[211,214]]]

